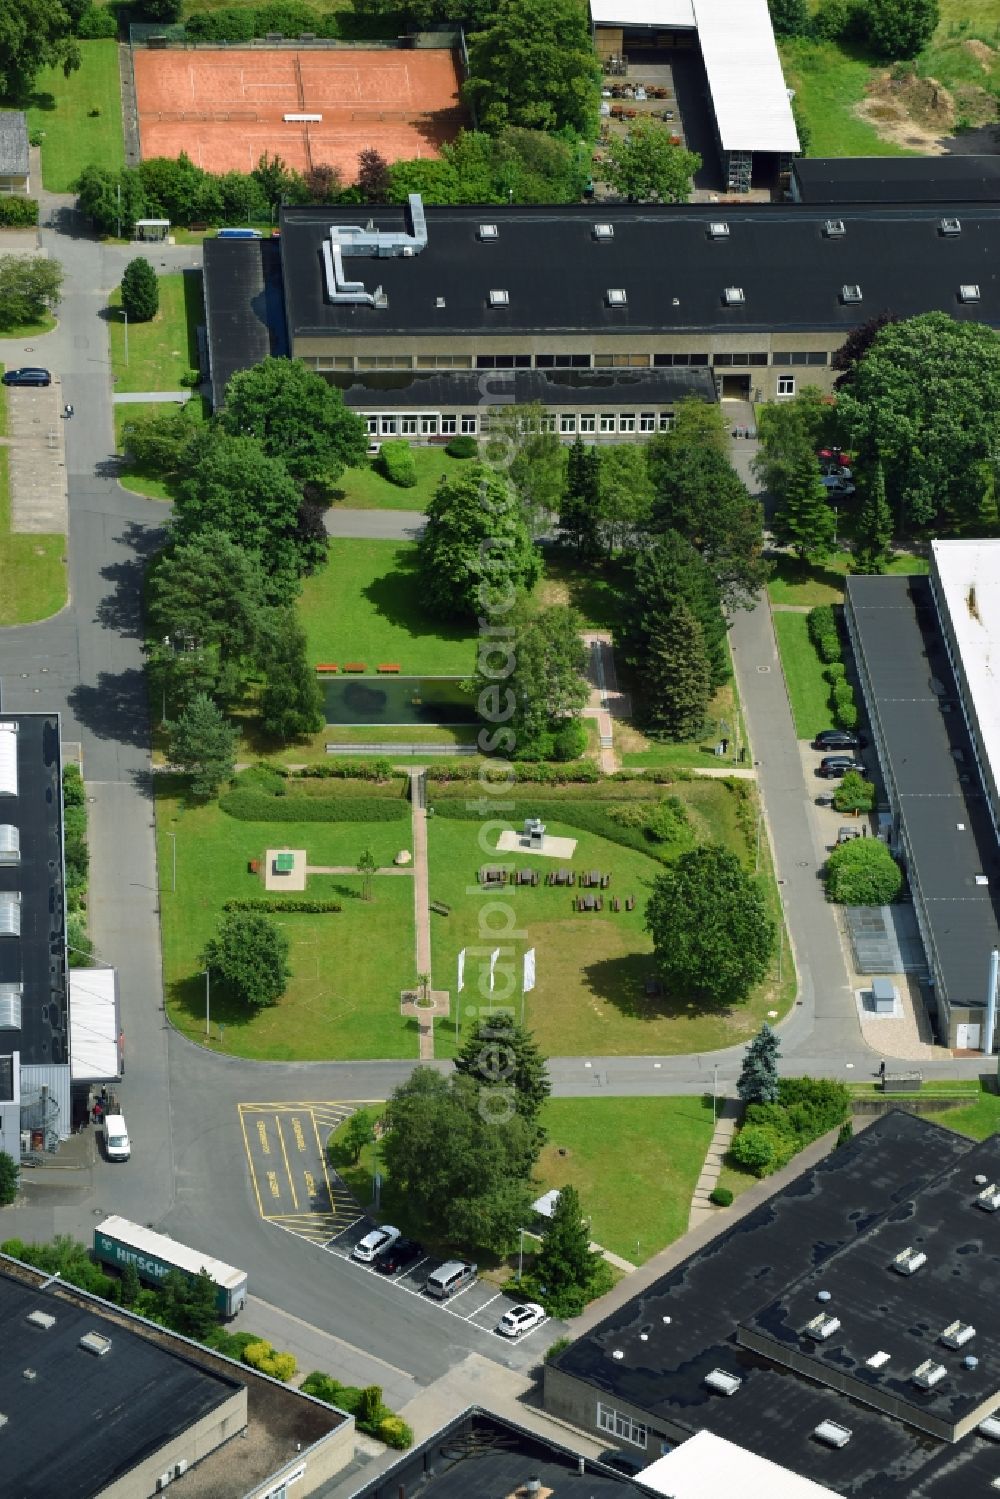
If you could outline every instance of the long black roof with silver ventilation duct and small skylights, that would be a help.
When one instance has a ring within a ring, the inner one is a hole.
[[[1000,207],[961,210],[961,232],[940,232],[934,208],[852,207],[844,235],[825,234],[826,214],[802,204],[708,207],[426,208],[427,246],[411,256],[345,256],[345,274],[387,306],[331,304],[321,252],[333,223],[408,232],[391,208],[283,208],[282,273],[288,330],[301,337],[511,337],[519,334],[802,333],[844,336],[891,309],[909,318],[945,310],[960,321],[1000,324],[996,243]],[[729,232],[712,238],[709,225]],[[480,223],[496,225],[481,240]],[[613,228],[598,240],[595,223]],[[210,241],[211,243],[211,241]],[[223,241],[225,243],[225,241]],[[961,303],[961,285],[981,300]],[[843,301],[861,286],[862,301]],[[727,306],[726,288],[745,301]],[[490,306],[490,291],[508,294]],[[622,289],[625,303],[609,304]],[[439,306],[444,301],[444,306]]]

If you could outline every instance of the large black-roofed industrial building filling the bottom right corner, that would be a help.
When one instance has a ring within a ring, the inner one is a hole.
[[[654,1492],[685,1499],[993,1493],[997,1181],[1000,1138],[889,1112],[549,1360],[546,1409],[645,1460],[640,1484],[670,1454]]]

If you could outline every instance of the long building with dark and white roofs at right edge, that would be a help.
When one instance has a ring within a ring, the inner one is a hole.
[[[889,800],[889,838],[924,943],[934,1027],[946,1046],[993,1051],[1000,541],[934,541],[930,579],[849,577],[846,621]]]

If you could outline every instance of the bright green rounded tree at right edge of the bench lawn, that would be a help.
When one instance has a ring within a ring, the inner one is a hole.
[[[417,567],[429,610],[445,619],[474,618],[493,601],[534,588],[541,561],[505,475],[466,463],[438,484]]]

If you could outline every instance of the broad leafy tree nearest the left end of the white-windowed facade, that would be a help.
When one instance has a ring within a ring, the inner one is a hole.
[[[364,462],[364,421],[339,390],[301,360],[261,360],[226,385],[220,426],[256,438],[300,484],[331,486],[345,468]]]

